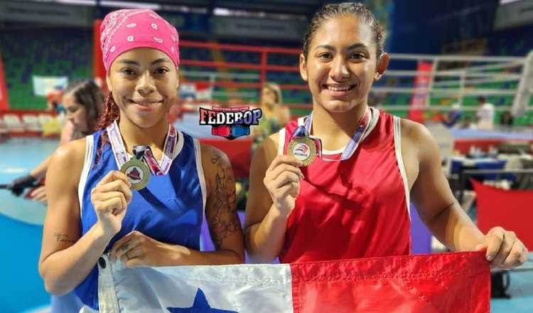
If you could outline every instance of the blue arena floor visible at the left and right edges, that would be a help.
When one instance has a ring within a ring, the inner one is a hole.
[[[28,173],[47,157],[57,145],[43,139],[8,139],[0,143],[0,184]],[[0,190],[0,238],[2,283],[0,312],[31,312],[50,304],[38,274],[42,223],[45,206]],[[508,293],[511,299],[492,299],[492,312],[533,312],[533,272],[511,274]]]

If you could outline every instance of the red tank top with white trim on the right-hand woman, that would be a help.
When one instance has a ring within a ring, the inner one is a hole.
[[[303,118],[281,129],[280,153],[286,153],[298,124]],[[301,168],[305,179],[287,221],[281,262],[409,254],[409,188],[399,118],[372,109],[370,127],[350,159],[333,154],[328,159],[338,161],[317,157]]]

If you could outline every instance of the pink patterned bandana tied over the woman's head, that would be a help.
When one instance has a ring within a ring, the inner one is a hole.
[[[146,9],[124,9],[105,16],[100,26],[100,46],[105,70],[124,51],[133,48],[156,48],[178,66],[178,31],[156,12]]]

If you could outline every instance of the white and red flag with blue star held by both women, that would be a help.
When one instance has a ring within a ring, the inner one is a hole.
[[[100,312],[490,311],[481,252],[290,265],[126,268],[105,260]]]

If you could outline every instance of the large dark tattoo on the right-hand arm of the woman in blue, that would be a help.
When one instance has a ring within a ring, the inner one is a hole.
[[[211,158],[211,163],[216,166],[217,174],[211,189],[206,218],[211,239],[218,250],[228,235],[242,230],[235,209],[235,179],[231,166],[220,152]]]

